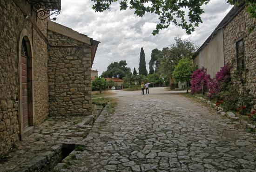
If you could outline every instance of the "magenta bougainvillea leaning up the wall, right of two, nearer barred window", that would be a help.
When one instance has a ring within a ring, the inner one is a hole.
[[[216,73],[214,79],[210,79],[207,83],[207,88],[209,89],[208,97],[212,97],[213,95],[218,94],[223,87],[229,82],[230,80],[230,66],[224,65],[221,67],[221,70]]]

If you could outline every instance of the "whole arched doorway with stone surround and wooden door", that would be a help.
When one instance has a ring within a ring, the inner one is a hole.
[[[27,30],[22,30],[19,41],[19,124],[20,139],[30,134],[34,129],[33,106],[33,51]]]

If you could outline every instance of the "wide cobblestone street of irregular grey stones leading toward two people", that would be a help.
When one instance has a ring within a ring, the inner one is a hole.
[[[256,172],[256,139],[237,122],[164,88],[115,91],[114,114],[100,116],[61,171]],[[65,169],[64,169],[65,168]]]

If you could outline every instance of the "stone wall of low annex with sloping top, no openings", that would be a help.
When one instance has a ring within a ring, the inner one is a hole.
[[[89,115],[91,50],[84,42],[48,31],[49,115]]]

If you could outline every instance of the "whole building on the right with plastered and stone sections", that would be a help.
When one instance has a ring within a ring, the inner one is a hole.
[[[224,64],[240,92],[256,96],[256,19],[246,7],[233,7],[193,56],[194,66],[206,67],[213,78]]]

